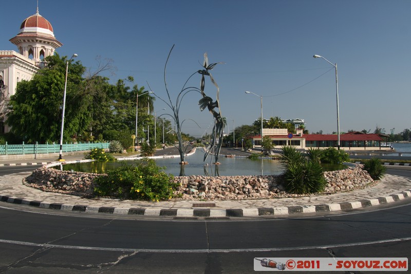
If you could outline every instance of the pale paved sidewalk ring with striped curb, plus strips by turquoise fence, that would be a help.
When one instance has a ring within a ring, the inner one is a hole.
[[[67,161],[80,160],[84,154],[64,155]],[[41,159],[43,162],[55,158]],[[0,165],[24,165],[20,160]],[[176,217],[258,217],[281,216],[294,213],[344,211],[350,209],[393,203],[411,197],[411,180],[386,175],[376,186],[363,190],[314,195],[298,198],[249,199],[249,200],[177,200],[170,202],[145,202],[109,198],[84,198],[60,193],[43,192],[24,186],[23,178],[31,172],[0,177],[0,200],[54,210],[91,213],[137,214],[144,216]]]

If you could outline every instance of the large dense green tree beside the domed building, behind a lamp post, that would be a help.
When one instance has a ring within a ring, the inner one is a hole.
[[[48,57],[49,65],[39,70],[31,81],[17,84],[10,97],[7,124],[26,142],[57,142],[60,138],[66,57]],[[85,68],[79,61],[69,65],[66,96],[64,141],[87,128],[90,117],[87,105],[78,100],[78,87]]]

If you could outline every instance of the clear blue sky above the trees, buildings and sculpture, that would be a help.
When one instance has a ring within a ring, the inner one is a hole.
[[[36,0],[2,1],[0,50],[17,50],[9,42]],[[7,7],[7,8],[5,8]],[[411,1],[408,0],[39,0],[39,11],[63,43],[60,56],[78,54],[95,69],[96,57],[111,59],[111,83],[133,76],[173,103],[184,82],[198,69],[204,52],[210,62],[224,62],[211,72],[220,87],[221,114],[230,132],[265,119],[300,118],[309,132],[337,131],[335,70],[321,58],[338,64],[341,132],[371,130],[386,133],[409,129],[411,102]],[[132,85],[134,85],[132,84]],[[200,75],[189,85],[199,87]],[[216,89],[206,83],[206,94]],[[181,104],[182,131],[203,134],[212,115],[198,107],[198,93]],[[157,115],[170,108],[155,102]],[[228,128],[225,129],[225,132]]]

